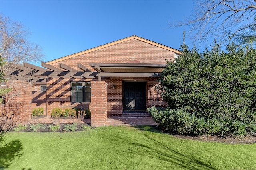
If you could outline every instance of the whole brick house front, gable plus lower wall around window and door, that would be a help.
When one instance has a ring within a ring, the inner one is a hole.
[[[95,71],[89,66],[89,63],[154,63],[165,64],[167,60],[174,59],[174,52],[156,47],[154,45],[142,42],[137,39],[131,39],[122,43],[112,45],[103,49],[99,49],[84,55],[79,55],[61,61],[76,70],[77,63],[81,63],[91,71]],[[51,64],[58,67],[58,63]],[[123,110],[123,79],[143,79],[148,80],[146,83],[146,107],[164,106],[164,102],[154,89],[157,78],[132,78],[132,77],[110,77],[108,79],[102,78],[108,84],[108,98],[107,98],[107,112],[108,115],[121,115]],[[63,79],[53,78],[47,80],[47,115],[54,108],[90,108],[91,103],[71,103],[70,102],[70,81],[78,81],[78,79]],[[81,79],[82,81],[91,81],[91,79]],[[94,79],[94,81],[98,81]],[[112,86],[115,85],[115,90]],[[93,85],[92,85],[93,86]],[[92,87],[93,88],[93,87]],[[92,92],[93,95],[93,92]]]

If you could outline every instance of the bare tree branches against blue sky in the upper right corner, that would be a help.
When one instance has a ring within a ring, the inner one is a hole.
[[[174,22],[171,27],[190,26],[187,35],[194,43],[212,43],[214,39],[225,42],[229,37],[255,36],[256,0],[200,0],[184,22]]]

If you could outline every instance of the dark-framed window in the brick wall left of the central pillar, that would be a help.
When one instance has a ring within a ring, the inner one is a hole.
[[[71,82],[71,102],[91,102],[91,83]]]

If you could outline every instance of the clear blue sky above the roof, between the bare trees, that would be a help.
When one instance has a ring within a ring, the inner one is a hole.
[[[131,35],[179,49],[189,28],[169,29],[169,23],[189,17],[192,9],[191,0],[0,0],[0,12],[32,31],[29,40],[42,47],[44,61]]]

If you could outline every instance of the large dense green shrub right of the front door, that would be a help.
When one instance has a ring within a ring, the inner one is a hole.
[[[178,133],[255,133],[256,50],[234,43],[226,52],[218,44],[203,53],[185,43],[181,47],[182,55],[167,62],[158,86],[169,108],[149,110],[154,119]]]

